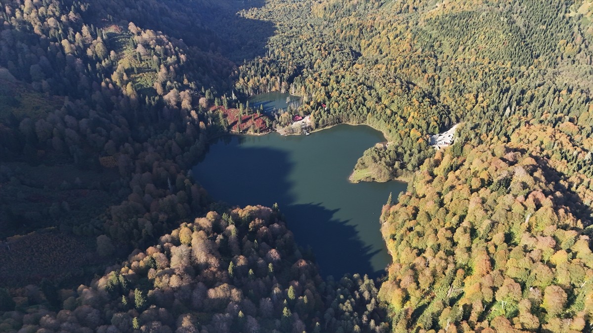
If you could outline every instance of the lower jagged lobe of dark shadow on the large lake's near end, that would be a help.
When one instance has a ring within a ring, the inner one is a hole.
[[[359,273],[375,278],[383,272],[375,271],[371,264],[371,258],[380,250],[373,251],[371,245],[366,245],[347,220],[335,219],[338,209],[309,203],[280,206],[280,210],[297,243],[313,248],[323,276],[341,278],[346,273]]]

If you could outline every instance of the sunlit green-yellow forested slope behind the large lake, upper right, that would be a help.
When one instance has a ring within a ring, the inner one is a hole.
[[[237,88],[291,89],[317,126],[382,130],[396,145],[360,164],[379,180],[417,169],[431,155],[426,134],[459,121],[471,121],[475,143],[479,133],[508,136],[522,125],[502,126],[515,114],[570,123],[591,149],[588,1],[272,2],[247,15],[278,30],[268,55],[240,67]],[[590,163],[577,163],[591,176]]]

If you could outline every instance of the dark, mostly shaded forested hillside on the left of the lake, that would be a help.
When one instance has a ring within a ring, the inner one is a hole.
[[[194,12],[233,21],[242,3],[198,4],[205,8]],[[43,279],[69,286],[102,274],[178,219],[205,212],[211,201],[186,170],[208,137],[230,125],[213,107],[239,106],[246,129],[256,122],[255,111],[216,92],[230,87],[235,70],[216,46],[220,36],[194,21],[209,32],[186,43],[162,32],[176,31],[178,20],[146,19],[161,8],[191,21],[182,6],[120,5],[8,1],[3,8],[2,286]]]

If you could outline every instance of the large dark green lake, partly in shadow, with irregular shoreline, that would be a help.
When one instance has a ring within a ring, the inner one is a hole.
[[[309,136],[225,136],[209,145],[193,177],[232,205],[278,203],[299,245],[313,248],[323,276],[377,277],[390,261],[379,217],[406,183],[348,177],[362,153],[384,141],[368,126],[342,124]]]

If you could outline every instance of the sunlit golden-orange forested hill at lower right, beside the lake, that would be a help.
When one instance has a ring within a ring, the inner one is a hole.
[[[590,328],[591,180],[533,153],[536,137],[566,142],[543,128],[438,152],[384,206],[393,264],[380,297],[396,331]]]

